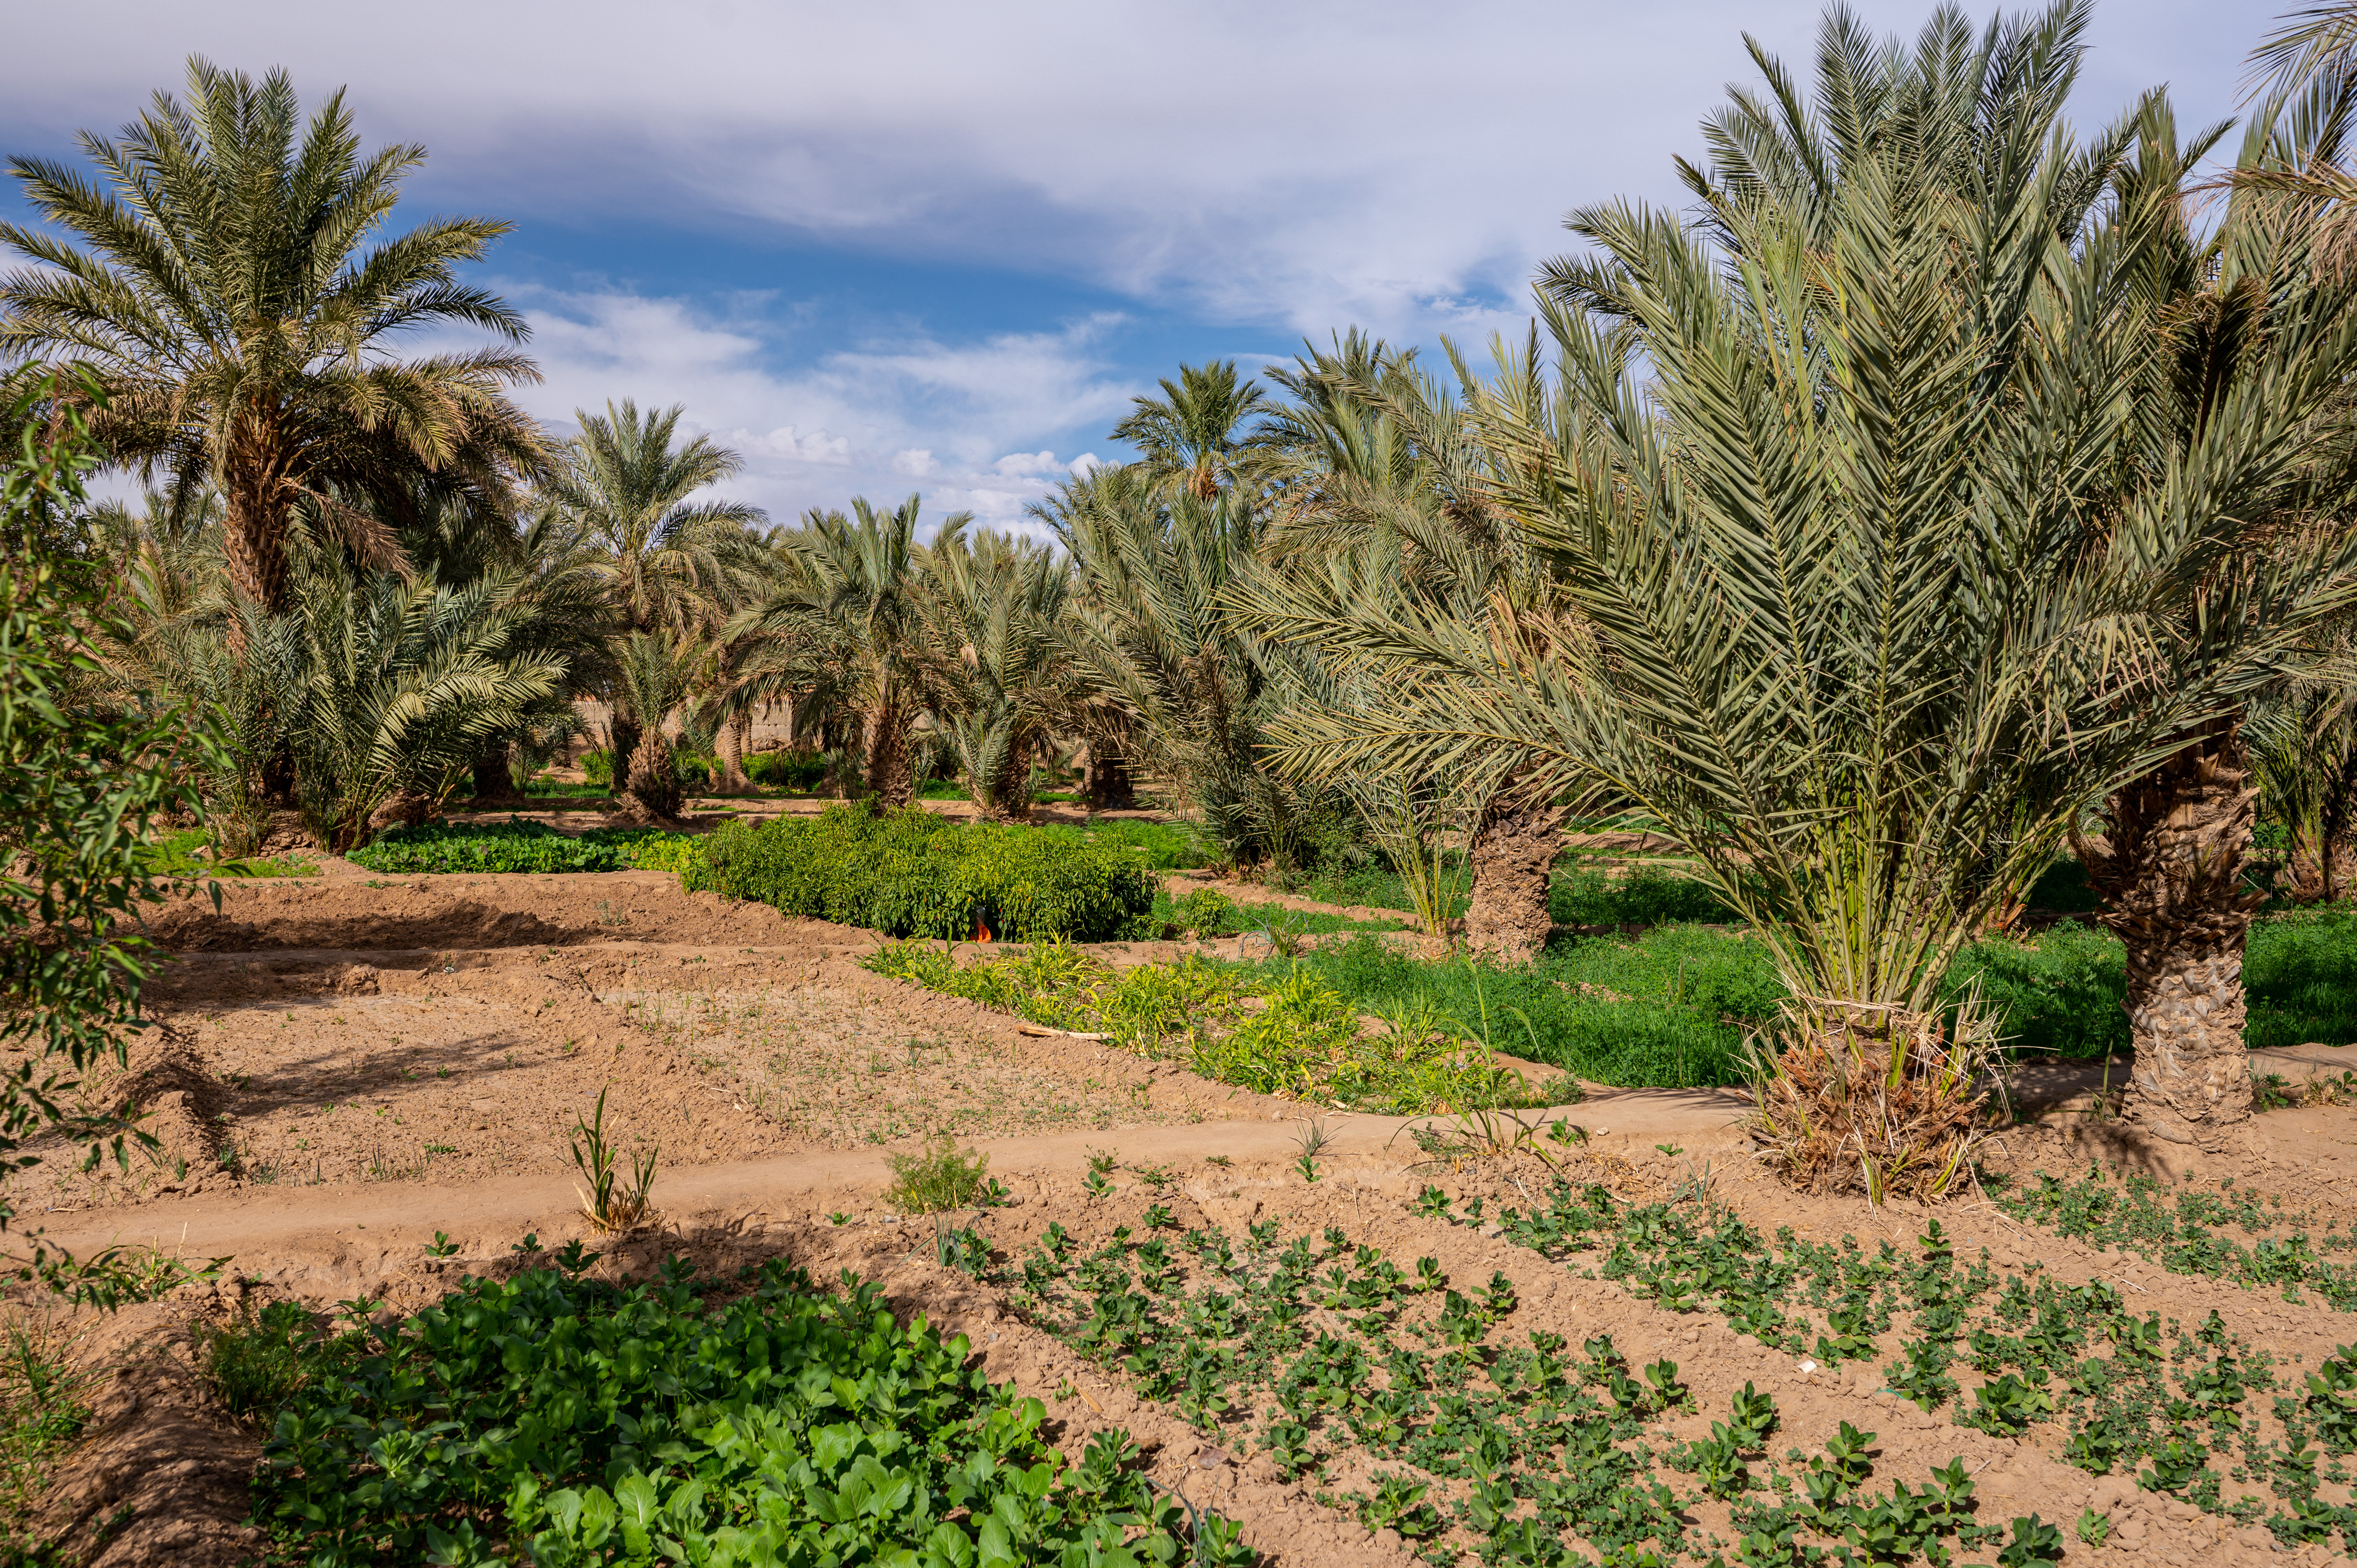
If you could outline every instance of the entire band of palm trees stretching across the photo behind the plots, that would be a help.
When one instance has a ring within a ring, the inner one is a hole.
[[[783,707],[879,806],[955,764],[1014,818],[1084,752],[1091,802],[1153,778],[1235,865],[1372,844],[1435,931],[1461,844],[1513,957],[1565,818],[1633,811],[1777,955],[1782,1158],[1940,1191],[1989,1023],[1935,990],[2062,846],[2128,943],[2135,1115],[2204,1146],[2249,1108],[2258,806],[2293,891],[2357,872],[2352,17],[2270,40],[2204,179],[2227,130],[2161,92],[2065,125],[2086,0],[1914,45],[1836,9],[1810,87],[1754,47],[1692,210],[1570,217],[1487,370],[1358,332],[1268,387],[1186,368],[1136,462],[1032,509],[1054,545],[915,498],[768,528],[679,410],[549,441],[523,325],[455,276],[502,226],[363,252],[420,153],[299,125],[283,75],[191,66],[85,139],[99,184],[16,160],[82,245],[0,226],[40,264],[0,354],[75,361],[156,483],[94,519],[141,625],[108,674],[226,714],[247,832],[497,797],[582,696],[665,818],[681,724],[731,788]],[[502,347],[396,356],[424,323]]]

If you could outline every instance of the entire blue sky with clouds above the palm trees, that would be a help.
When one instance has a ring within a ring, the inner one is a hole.
[[[189,54],[344,87],[429,160],[394,229],[514,222],[476,269],[530,325],[519,401],[566,431],[681,403],[775,521],[924,495],[1018,526],[1178,363],[1351,325],[1480,351],[1563,215],[1681,203],[1673,156],[1744,31],[1808,73],[1817,0],[214,0],[19,5],[0,153],[73,158]],[[1923,0],[1857,0],[1914,33]],[[2237,111],[2272,5],[2100,0],[2074,120],[2168,85]],[[1987,7],[1973,17],[1985,19]],[[24,217],[14,191],[0,210]]]

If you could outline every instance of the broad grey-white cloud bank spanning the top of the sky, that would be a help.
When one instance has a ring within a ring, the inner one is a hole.
[[[1994,2],[1994,0],[1992,0]],[[1683,200],[1673,151],[1739,28],[1808,71],[1820,0],[1164,7],[412,0],[405,26],[295,0],[118,0],[12,17],[0,130],[111,127],[181,57],[349,83],[462,203],[1087,278],[1322,335],[1485,330],[1579,203]],[[1930,0],[1860,0],[1914,31]],[[1985,14],[1989,5],[1973,5]],[[2176,78],[2230,113],[2258,9],[2105,0],[2081,120]],[[464,38],[467,47],[450,47]],[[726,330],[726,328],[724,328]],[[686,349],[686,344],[681,344]],[[955,375],[955,356],[938,363]],[[858,446],[858,441],[853,441]]]

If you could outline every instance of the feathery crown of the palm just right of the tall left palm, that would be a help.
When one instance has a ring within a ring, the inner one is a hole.
[[[757,564],[750,528],[768,521],[740,500],[695,500],[745,462],[709,436],[676,441],[681,408],[575,410],[547,493],[599,552],[620,615],[639,632],[717,632]]]

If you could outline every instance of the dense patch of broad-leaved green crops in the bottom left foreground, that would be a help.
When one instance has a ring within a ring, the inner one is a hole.
[[[676,1259],[618,1287],[594,1257],[304,1346],[255,1476],[269,1561],[1252,1561],[1216,1516],[1186,1540],[1127,1434],[1070,1464],[1039,1401],[872,1285],[768,1261],[712,1306]]]

